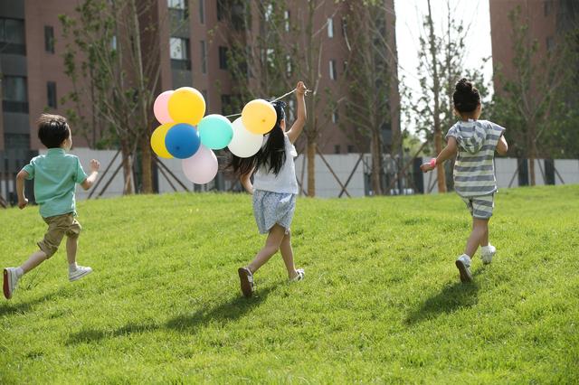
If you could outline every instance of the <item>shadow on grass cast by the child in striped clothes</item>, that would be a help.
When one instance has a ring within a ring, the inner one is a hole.
[[[444,286],[440,293],[431,296],[420,308],[410,313],[406,318],[406,324],[416,324],[442,314],[451,314],[459,309],[476,305],[479,300],[477,276],[482,273],[484,273],[484,268],[479,268],[472,273],[472,282],[466,284],[455,282]]]

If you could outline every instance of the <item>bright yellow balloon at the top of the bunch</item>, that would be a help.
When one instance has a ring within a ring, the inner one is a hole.
[[[168,109],[174,122],[196,126],[205,115],[205,99],[198,90],[182,87],[169,98]]]

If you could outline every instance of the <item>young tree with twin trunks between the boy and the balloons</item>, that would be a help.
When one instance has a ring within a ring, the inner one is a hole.
[[[133,192],[137,151],[141,191],[153,192],[149,139],[160,79],[163,17],[155,0],[84,0],[76,14],[60,16],[67,41],[65,73],[73,85],[66,97],[72,102],[68,114],[90,132],[100,132],[107,144],[119,146],[124,193]],[[91,144],[97,146],[94,140]]]

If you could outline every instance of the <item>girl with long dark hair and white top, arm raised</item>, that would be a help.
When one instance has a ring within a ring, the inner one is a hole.
[[[238,273],[243,296],[252,296],[253,274],[278,251],[288,269],[290,281],[305,277],[304,270],[296,269],[291,249],[289,226],[296,208],[299,192],[296,167],[297,156],[293,144],[306,124],[306,86],[299,81],[296,87],[298,116],[293,126],[286,131],[284,102],[273,102],[277,113],[275,127],[265,136],[261,150],[252,157],[239,158],[233,155],[231,167],[245,190],[253,195],[253,214],[261,234],[268,234],[265,246],[248,266],[239,268]],[[253,185],[251,176],[255,172]]]

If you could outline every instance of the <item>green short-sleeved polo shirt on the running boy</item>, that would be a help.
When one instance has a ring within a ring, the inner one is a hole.
[[[34,180],[34,197],[43,218],[76,214],[76,183],[87,179],[78,157],[66,154],[62,148],[49,148],[46,155],[34,157],[23,170],[28,173],[27,179]]]

